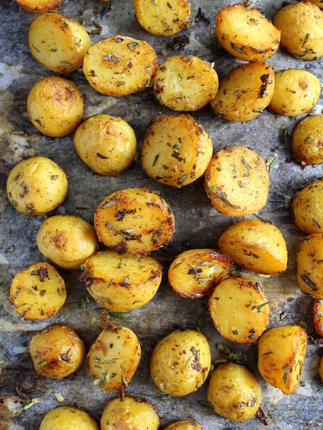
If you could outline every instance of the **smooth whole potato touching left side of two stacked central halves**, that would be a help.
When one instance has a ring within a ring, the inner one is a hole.
[[[94,229],[74,215],[47,218],[37,232],[39,251],[63,269],[79,269],[98,247]]]

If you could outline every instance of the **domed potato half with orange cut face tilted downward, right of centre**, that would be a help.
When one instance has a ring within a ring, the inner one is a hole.
[[[275,274],[287,268],[287,247],[280,230],[260,220],[241,220],[221,234],[218,247],[255,273]]]

